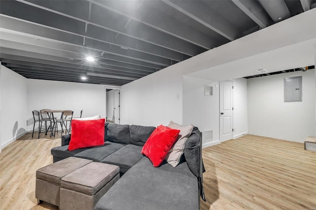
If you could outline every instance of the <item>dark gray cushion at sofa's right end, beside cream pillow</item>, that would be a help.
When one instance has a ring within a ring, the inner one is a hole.
[[[184,156],[186,158],[187,164],[191,170],[191,172],[199,176],[199,170],[200,170],[200,147],[199,147],[199,141],[200,141],[200,132],[197,129],[197,127],[194,127],[190,137],[185,143],[184,148]]]

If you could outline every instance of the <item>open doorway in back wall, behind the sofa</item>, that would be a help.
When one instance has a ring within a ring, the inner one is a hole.
[[[108,123],[119,124],[120,118],[120,104],[119,104],[119,89],[106,88],[106,120]]]

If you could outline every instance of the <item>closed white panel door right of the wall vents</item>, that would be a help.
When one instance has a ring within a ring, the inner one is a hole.
[[[225,80],[220,82],[219,94],[220,141],[233,139],[233,81]]]

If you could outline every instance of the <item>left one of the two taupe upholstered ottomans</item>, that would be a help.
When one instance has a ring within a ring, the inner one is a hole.
[[[45,201],[59,206],[61,178],[91,162],[91,160],[69,157],[39,169],[36,172],[35,189],[38,203]]]

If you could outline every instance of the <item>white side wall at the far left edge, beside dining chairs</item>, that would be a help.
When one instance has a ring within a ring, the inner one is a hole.
[[[1,148],[26,133],[27,79],[1,66]]]

